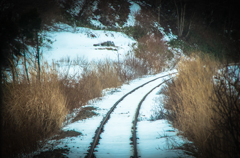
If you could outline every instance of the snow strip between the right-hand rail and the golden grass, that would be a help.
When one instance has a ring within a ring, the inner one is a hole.
[[[138,156],[141,158],[156,158],[156,157],[179,157],[179,154],[184,154],[180,150],[171,149],[172,141],[178,144],[184,143],[183,138],[177,136],[177,129],[174,129],[167,120],[149,121],[156,117],[157,106],[161,104],[161,96],[159,89],[156,88],[148,95],[143,102],[139,120],[137,123],[137,140]],[[184,155],[186,157],[186,155]]]

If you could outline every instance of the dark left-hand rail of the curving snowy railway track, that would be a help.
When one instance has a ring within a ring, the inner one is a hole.
[[[166,76],[169,76],[169,75],[172,75],[172,74],[176,74],[176,72],[174,73],[171,73],[171,74],[167,74],[167,75],[164,75],[164,76],[160,76],[160,77],[157,77],[153,80],[150,80],[136,88],[134,88],[132,91],[128,92],[127,94],[125,94],[122,98],[120,98],[112,107],[111,109],[108,111],[108,113],[106,114],[106,116],[102,119],[101,121],[101,124],[100,126],[97,128],[97,130],[95,131],[95,136],[93,138],[93,142],[91,143],[91,146],[90,146],[90,149],[88,150],[88,153],[86,155],[87,158],[93,158],[94,155],[93,155],[93,152],[94,152],[94,149],[95,147],[97,146],[98,144],[98,141],[99,141],[99,137],[100,137],[100,134],[101,132],[103,131],[103,126],[106,124],[106,122],[108,121],[108,119],[110,118],[110,114],[113,112],[113,110],[116,108],[116,106],[125,98],[127,97],[129,94],[133,93],[134,91],[136,91],[137,89],[145,86],[146,84],[150,83],[150,82],[153,82],[157,79],[160,79],[160,78],[163,78],[163,77],[166,77]]]

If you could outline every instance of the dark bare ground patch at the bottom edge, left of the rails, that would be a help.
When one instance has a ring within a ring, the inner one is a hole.
[[[69,149],[54,149],[52,151],[41,152],[39,155],[33,156],[33,158],[68,158],[65,154],[69,153]]]

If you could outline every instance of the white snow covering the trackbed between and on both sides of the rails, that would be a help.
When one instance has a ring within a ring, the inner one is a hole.
[[[176,70],[173,70],[175,72]],[[79,120],[77,122],[68,124],[63,128],[64,131],[74,130],[81,132],[83,135],[77,137],[67,137],[60,140],[60,144],[54,147],[56,148],[68,148],[69,154],[66,155],[70,158],[85,157],[90,143],[95,135],[95,130],[100,125],[101,120],[106,115],[108,110],[113,104],[119,100],[123,95],[134,89],[135,87],[152,80],[156,77],[166,75],[170,72],[165,72],[152,76],[145,76],[141,79],[131,81],[129,84],[124,84],[121,88],[115,90],[114,93],[110,91],[105,92],[105,96],[100,100],[86,105],[94,106],[97,108],[95,111],[97,116],[88,118],[85,120]],[[131,141],[131,127],[132,120],[134,118],[136,106],[141,98],[150,91],[153,87],[161,83],[164,79],[158,79],[146,86],[140,88],[132,95],[124,99],[114,110],[110,116],[110,120],[104,127],[104,132],[101,134],[99,145],[97,146],[94,154],[97,157],[130,157],[132,156]],[[153,100],[159,97],[157,91],[154,90],[149,97],[143,102],[141,116],[150,118],[149,111],[154,110],[155,105]],[[154,99],[155,98],[155,99]],[[144,109],[144,110],[143,110]],[[143,120],[137,124],[137,137],[138,139],[138,152],[141,157],[178,157],[176,151],[167,150],[167,140],[171,136],[178,143],[183,143],[184,140],[178,137],[177,130],[174,129],[166,120],[147,121]],[[110,137],[111,136],[111,137]],[[49,141],[50,144],[56,143],[56,140]],[[59,143],[59,141],[58,141]],[[47,145],[51,146],[51,145]],[[181,151],[178,151],[181,153]]]

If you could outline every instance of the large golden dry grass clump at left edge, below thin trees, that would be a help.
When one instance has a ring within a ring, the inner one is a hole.
[[[21,157],[36,150],[65,121],[66,97],[56,72],[43,65],[41,81],[30,69],[30,83],[18,70],[17,82],[5,82],[2,107],[2,151],[5,157]],[[10,79],[10,77],[9,77]]]

